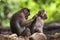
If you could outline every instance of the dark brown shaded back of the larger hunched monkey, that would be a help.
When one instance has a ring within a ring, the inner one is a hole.
[[[18,20],[17,14],[14,14],[10,20],[10,28],[13,33],[16,31],[16,21]]]

